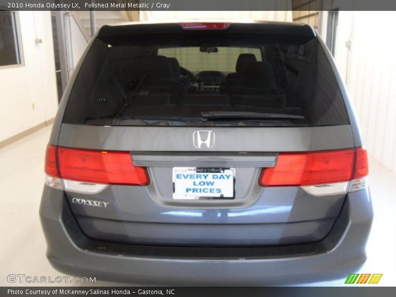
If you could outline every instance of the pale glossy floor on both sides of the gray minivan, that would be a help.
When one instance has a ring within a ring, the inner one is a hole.
[[[0,149],[0,286],[18,285],[7,282],[6,276],[9,274],[47,276],[52,279],[62,276],[49,265],[45,256],[46,243],[38,214],[50,129],[50,126],[46,127]],[[396,174],[371,159],[369,182],[375,218],[367,245],[368,260],[361,273],[383,273],[379,285],[395,286]],[[345,278],[303,285],[343,286],[344,281]],[[94,285],[118,284],[97,281]]]

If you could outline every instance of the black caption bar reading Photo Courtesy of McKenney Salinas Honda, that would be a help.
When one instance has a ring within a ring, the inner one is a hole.
[[[13,294],[8,290],[13,290]],[[63,291],[62,291],[63,290]],[[21,294],[16,294],[19,291]],[[161,294],[161,293],[162,294]],[[49,293],[49,294],[48,294]],[[396,287],[1,287],[17,297],[394,297]]]

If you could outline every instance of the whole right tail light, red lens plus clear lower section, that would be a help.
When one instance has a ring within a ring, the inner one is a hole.
[[[331,151],[280,153],[275,167],[263,168],[259,185],[300,186],[317,193],[331,193],[330,186],[337,191],[346,189],[358,181],[364,184],[368,175],[367,151],[365,148],[352,148]],[[362,180],[363,179],[363,180]],[[343,183],[345,187],[340,185]],[[327,186],[327,187],[326,187]]]

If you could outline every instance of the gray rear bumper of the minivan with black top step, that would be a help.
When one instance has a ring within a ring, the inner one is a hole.
[[[153,247],[82,233],[62,191],[45,187],[40,216],[51,265],[66,274],[139,285],[262,286],[347,277],[366,259],[368,190],[350,193],[325,239],[284,247]]]

